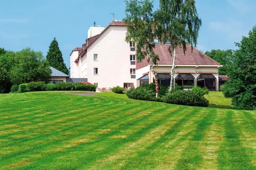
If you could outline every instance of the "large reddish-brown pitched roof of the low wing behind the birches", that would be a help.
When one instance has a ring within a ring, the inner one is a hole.
[[[168,51],[168,45],[156,44],[153,49],[155,54],[158,55],[158,64],[172,65],[173,54],[170,55]],[[176,48],[176,65],[221,65],[217,61],[211,59],[203,52],[193,48],[191,52],[191,46],[187,44],[187,51],[185,54],[180,47]],[[148,65],[148,59],[145,58],[142,62],[136,64],[136,69],[146,67]]]

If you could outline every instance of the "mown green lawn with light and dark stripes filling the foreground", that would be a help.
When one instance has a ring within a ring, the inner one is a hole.
[[[256,169],[255,111],[14,93],[0,125],[0,169]]]

